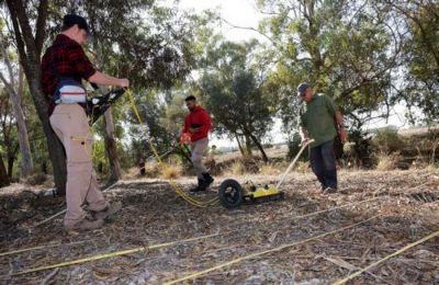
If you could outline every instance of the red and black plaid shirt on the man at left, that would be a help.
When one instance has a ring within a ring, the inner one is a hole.
[[[55,109],[52,95],[58,83],[58,76],[71,77],[81,82],[81,79],[88,80],[94,72],[95,69],[82,47],[66,35],[57,35],[42,60],[43,92],[52,101],[48,110],[49,115]]]

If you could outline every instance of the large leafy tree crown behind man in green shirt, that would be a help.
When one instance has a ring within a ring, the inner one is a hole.
[[[273,14],[260,30],[273,42],[275,66],[266,83],[280,96],[285,132],[296,124],[296,87],[306,81],[333,96],[351,124],[360,127],[390,98],[396,66],[383,11],[352,1],[258,1]]]

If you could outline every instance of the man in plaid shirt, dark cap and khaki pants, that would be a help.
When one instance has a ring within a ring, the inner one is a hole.
[[[110,205],[99,190],[92,169],[92,134],[86,103],[82,102],[82,99],[77,101],[59,100],[60,90],[67,86],[64,84],[67,81],[70,83],[69,88],[71,88],[71,83],[74,84],[74,90],[81,87],[82,79],[103,86],[124,88],[130,86],[127,79],[113,78],[93,68],[82,49],[88,34],[89,26],[82,16],[66,15],[61,33],[47,48],[42,60],[42,86],[49,101],[50,125],[61,140],[67,156],[67,213],[64,218],[64,226],[67,230],[99,228],[106,217],[122,207],[120,203]],[[77,94],[72,91],[69,92],[66,94],[74,94],[74,96]],[[86,218],[87,215],[81,207],[85,202],[88,204],[88,209],[92,212],[94,220]]]

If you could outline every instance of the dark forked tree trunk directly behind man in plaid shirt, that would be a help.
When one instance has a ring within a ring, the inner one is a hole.
[[[55,184],[58,193],[63,194],[66,191],[67,179],[66,153],[63,144],[50,127],[47,114],[48,102],[41,86],[41,52],[46,36],[48,0],[40,1],[35,33],[33,33],[33,29],[31,27],[23,0],[7,0],[7,4],[15,35],[15,45],[20,56],[20,62],[26,75],[36,113],[42,122],[47,146],[49,146],[48,153],[54,170]]]

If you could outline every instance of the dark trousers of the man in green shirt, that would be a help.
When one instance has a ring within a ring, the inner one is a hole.
[[[334,140],[309,148],[311,168],[322,183],[323,189],[337,189],[337,167],[334,153]]]

